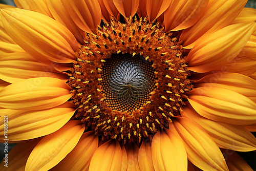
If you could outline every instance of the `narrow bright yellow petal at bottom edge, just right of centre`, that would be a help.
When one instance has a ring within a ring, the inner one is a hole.
[[[139,167],[140,170],[144,171],[154,171],[154,165],[152,160],[152,153],[151,153],[151,144],[147,140],[143,140],[138,155]]]

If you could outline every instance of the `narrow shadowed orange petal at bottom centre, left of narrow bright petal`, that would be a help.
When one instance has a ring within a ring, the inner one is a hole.
[[[139,147],[136,144],[130,144],[126,145],[125,149],[128,158],[127,171],[140,171],[138,161]]]

